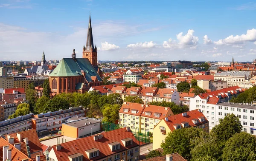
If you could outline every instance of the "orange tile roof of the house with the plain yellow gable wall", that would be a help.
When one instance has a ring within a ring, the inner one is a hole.
[[[189,127],[196,127],[198,125],[205,124],[208,122],[204,114],[202,112],[199,112],[198,110],[188,111],[186,112],[186,116],[182,116],[182,114],[183,113],[179,113],[177,115],[169,116],[168,121],[166,121],[166,119],[163,119],[163,121],[166,122],[167,126],[171,131],[175,130],[175,124],[181,125],[182,122],[189,123]],[[201,122],[201,120],[199,119],[199,123],[194,124],[192,119],[198,119],[198,117],[204,117],[205,121]]]

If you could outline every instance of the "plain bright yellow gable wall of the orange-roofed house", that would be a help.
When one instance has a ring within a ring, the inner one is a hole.
[[[160,127],[162,127],[162,129],[160,129]],[[163,127],[165,127],[165,128],[163,129]],[[153,133],[154,133],[153,150],[160,148],[161,143],[165,141],[166,134],[168,134],[170,132],[171,132],[171,130],[167,126],[164,119],[162,119],[153,130]]]

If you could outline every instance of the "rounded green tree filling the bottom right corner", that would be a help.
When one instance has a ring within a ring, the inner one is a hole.
[[[236,133],[223,149],[224,161],[256,161],[256,138],[246,132]]]

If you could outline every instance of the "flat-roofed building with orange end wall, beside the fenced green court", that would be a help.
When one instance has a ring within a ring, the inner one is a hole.
[[[61,135],[71,138],[84,137],[100,131],[101,121],[83,116],[74,116],[62,124]]]

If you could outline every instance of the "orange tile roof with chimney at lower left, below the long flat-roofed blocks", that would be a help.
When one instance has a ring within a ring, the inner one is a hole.
[[[35,129],[22,131],[22,132],[19,132],[19,134],[21,135],[22,142],[23,142],[24,138],[29,139],[29,151],[30,151],[30,153],[43,151],[43,149],[41,147],[41,143],[39,141],[39,138],[38,138],[38,135],[37,135]],[[19,139],[17,138],[17,133],[9,134],[9,136],[14,138],[14,143],[20,143]],[[5,139],[8,140],[7,135],[5,136]]]

